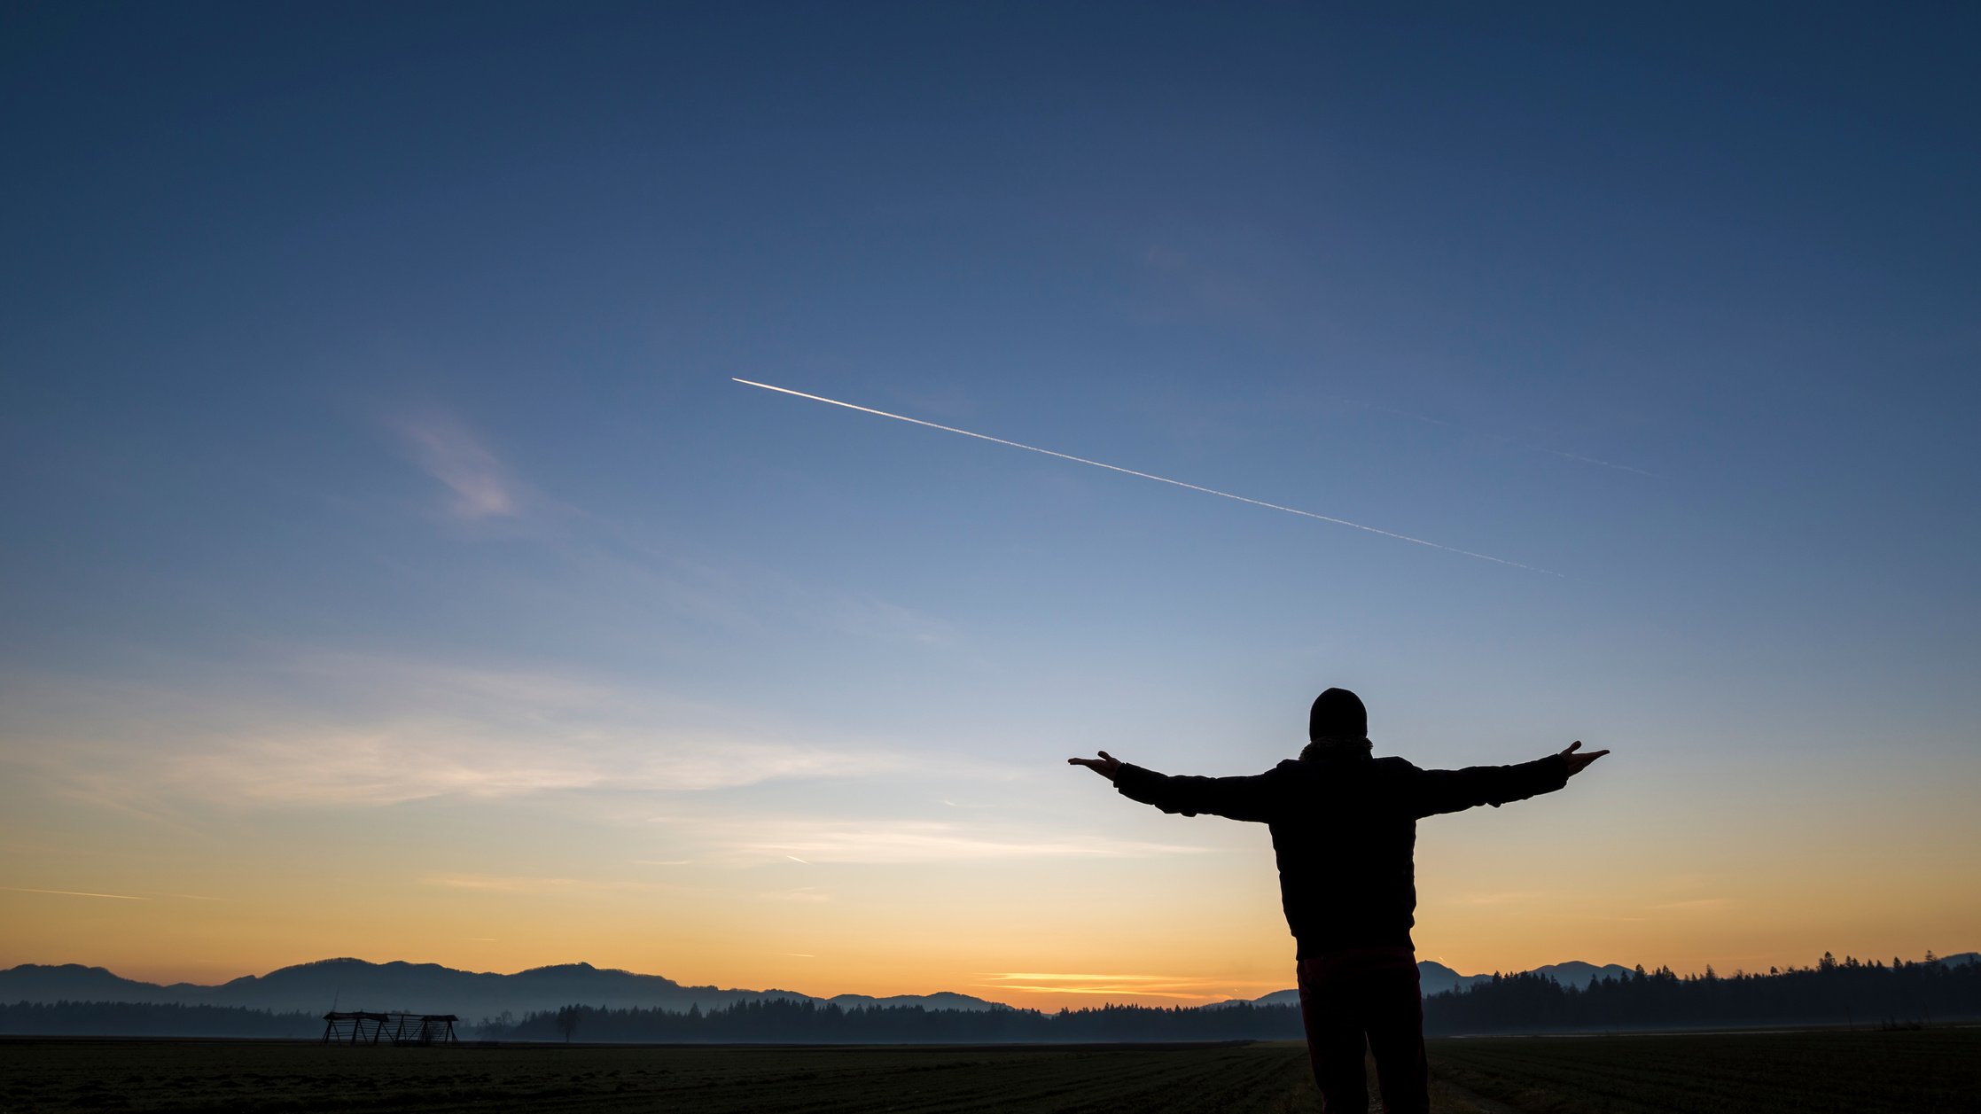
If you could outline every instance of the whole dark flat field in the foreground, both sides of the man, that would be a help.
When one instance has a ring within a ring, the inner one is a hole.
[[[1981,1096],[1981,1029],[1432,1043],[1434,1110],[1933,1112]],[[458,1047],[0,1041],[0,1114],[44,1110],[1317,1112],[1305,1051]]]

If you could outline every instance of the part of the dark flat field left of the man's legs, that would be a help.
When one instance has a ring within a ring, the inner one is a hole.
[[[0,1043],[0,1112],[1319,1110],[1300,1045],[349,1049]]]

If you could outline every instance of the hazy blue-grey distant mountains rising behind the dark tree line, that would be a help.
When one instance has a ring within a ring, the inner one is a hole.
[[[1961,951],[1941,955],[1939,963],[1961,965],[1981,963],[1981,953]],[[1422,961],[1416,965],[1426,995],[1456,987],[1470,987],[1490,981],[1492,975],[1460,975],[1444,963]],[[1535,967],[1563,985],[1587,985],[1591,977],[1628,975],[1630,967],[1616,963],[1549,963]],[[836,995],[812,997],[784,989],[723,989],[685,987],[660,975],[636,975],[632,971],[598,969],[590,963],[565,963],[555,967],[535,967],[513,975],[456,971],[438,963],[368,963],[365,959],[321,959],[297,963],[265,975],[244,975],[220,985],[196,983],[141,983],[105,971],[103,967],[83,967],[79,963],[40,965],[22,963],[0,971],[0,1003],[53,1003],[53,1001],[129,1001],[129,1003],[170,1003],[170,1005],[232,1005],[246,1009],[267,1009],[275,1013],[329,1009],[368,1009],[412,1013],[454,1013],[466,1021],[499,1017],[511,1013],[523,1017],[531,1011],[549,1011],[561,1005],[594,1005],[612,1009],[670,1009],[685,1013],[699,1007],[703,1013],[725,1009],[745,1001],[790,999],[816,1001],[820,1005],[838,1003],[842,1009],[868,1005],[919,1005],[925,1009],[1010,1009],[1004,1003],[985,1001],[961,993],[931,995]],[[1240,1005],[1242,999],[1222,1001],[1206,1009]],[[1298,1005],[1300,991],[1274,991],[1250,999],[1252,1005]]]

